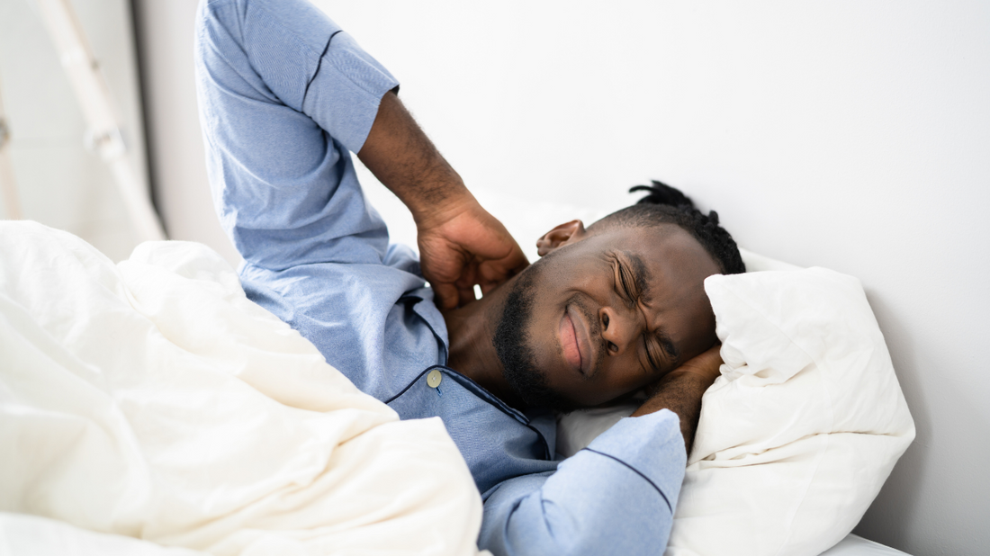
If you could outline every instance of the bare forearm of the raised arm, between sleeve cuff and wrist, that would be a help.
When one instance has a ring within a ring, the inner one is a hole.
[[[385,93],[358,158],[409,207],[418,225],[473,201],[463,181],[394,92]]]

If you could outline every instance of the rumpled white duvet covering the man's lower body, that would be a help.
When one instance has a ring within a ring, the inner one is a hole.
[[[215,252],[115,265],[33,223],[0,224],[0,511],[0,554],[475,554],[481,521],[440,419],[358,392]]]

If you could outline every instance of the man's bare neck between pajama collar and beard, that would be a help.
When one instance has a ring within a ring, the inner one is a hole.
[[[511,406],[519,406],[515,392],[503,375],[502,361],[492,337],[502,318],[509,283],[464,307],[443,312],[449,341],[447,366],[491,392]]]

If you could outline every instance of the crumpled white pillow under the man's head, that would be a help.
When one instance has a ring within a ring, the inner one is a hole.
[[[705,281],[725,365],[702,402],[666,556],[820,554],[852,530],[915,435],[859,281],[757,271],[796,267],[744,256],[750,272]],[[562,417],[561,454],[604,418]]]

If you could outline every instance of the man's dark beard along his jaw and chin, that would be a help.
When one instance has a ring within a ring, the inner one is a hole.
[[[579,406],[550,388],[545,373],[537,368],[527,333],[533,320],[539,262],[530,266],[513,284],[492,343],[502,362],[503,376],[529,409],[543,408],[566,414]]]

